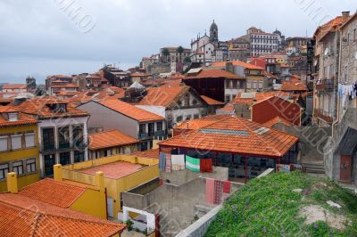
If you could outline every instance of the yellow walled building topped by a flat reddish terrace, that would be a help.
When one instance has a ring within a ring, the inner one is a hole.
[[[95,172],[104,173],[109,217],[117,218],[121,211],[121,192],[144,184],[159,176],[159,159],[116,155],[88,160],[62,168],[63,180],[72,184],[95,184]]]

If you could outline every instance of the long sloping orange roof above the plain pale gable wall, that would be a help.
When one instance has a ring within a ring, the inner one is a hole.
[[[156,115],[146,110],[141,110],[134,105],[131,105],[127,102],[121,102],[119,100],[105,100],[99,103],[109,109],[115,110],[139,122],[149,122],[149,121],[157,121],[157,120],[164,119],[162,116]]]

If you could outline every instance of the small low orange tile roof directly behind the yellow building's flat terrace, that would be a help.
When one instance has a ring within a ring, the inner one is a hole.
[[[126,144],[138,143],[137,139],[121,133],[117,129],[104,131],[89,135],[89,149],[97,150],[102,148],[115,147]]]

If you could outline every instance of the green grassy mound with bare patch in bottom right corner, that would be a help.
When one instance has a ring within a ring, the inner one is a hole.
[[[226,200],[206,236],[357,236],[357,196],[327,179],[278,172]]]

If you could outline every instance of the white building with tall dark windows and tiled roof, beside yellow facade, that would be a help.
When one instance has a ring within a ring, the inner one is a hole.
[[[39,120],[38,143],[41,176],[53,176],[54,165],[68,165],[88,158],[89,114],[54,97],[35,98],[16,108]]]

